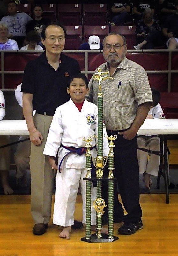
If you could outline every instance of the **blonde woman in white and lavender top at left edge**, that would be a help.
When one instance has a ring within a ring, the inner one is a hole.
[[[0,23],[0,50],[19,50],[17,42],[9,39],[6,24]]]

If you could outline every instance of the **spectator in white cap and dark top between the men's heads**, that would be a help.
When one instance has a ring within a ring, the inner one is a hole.
[[[100,43],[98,36],[90,36],[88,42],[80,44],[79,50],[102,50],[103,44]]]

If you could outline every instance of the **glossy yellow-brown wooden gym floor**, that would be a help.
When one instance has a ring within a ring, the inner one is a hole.
[[[54,197],[53,197],[54,203]],[[147,255],[178,256],[178,194],[170,195],[165,204],[164,194],[140,196],[144,228],[130,236],[114,235],[112,243],[86,243],[80,241],[85,230],[73,230],[71,239],[58,237],[59,227],[49,223],[42,236],[32,233],[30,195],[0,196],[0,256],[90,256],[90,255]],[[75,219],[81,221],[81,195],[76,202]],[[120,224],[121,225],[121,224]]]

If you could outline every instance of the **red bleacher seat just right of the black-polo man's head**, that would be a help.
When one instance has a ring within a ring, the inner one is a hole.
[[[78,50],[82,43],[82,26],[65,26],[67,36],[65,39],[65,50]]]

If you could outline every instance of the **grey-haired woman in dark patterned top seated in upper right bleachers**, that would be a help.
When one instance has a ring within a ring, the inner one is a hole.
[[[152,10],[146,8],[143,12],[143,20],[139,20],[135,34],[138,44],[134,49],[154,49],[155,46],[163,45],[161,26],[158,20],[154,20]]]

